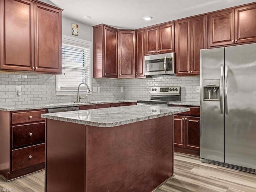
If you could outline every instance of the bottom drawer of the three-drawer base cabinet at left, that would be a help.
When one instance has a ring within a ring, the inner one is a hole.
[[[44,162],[44,144],[12,151],[12,171]]]

